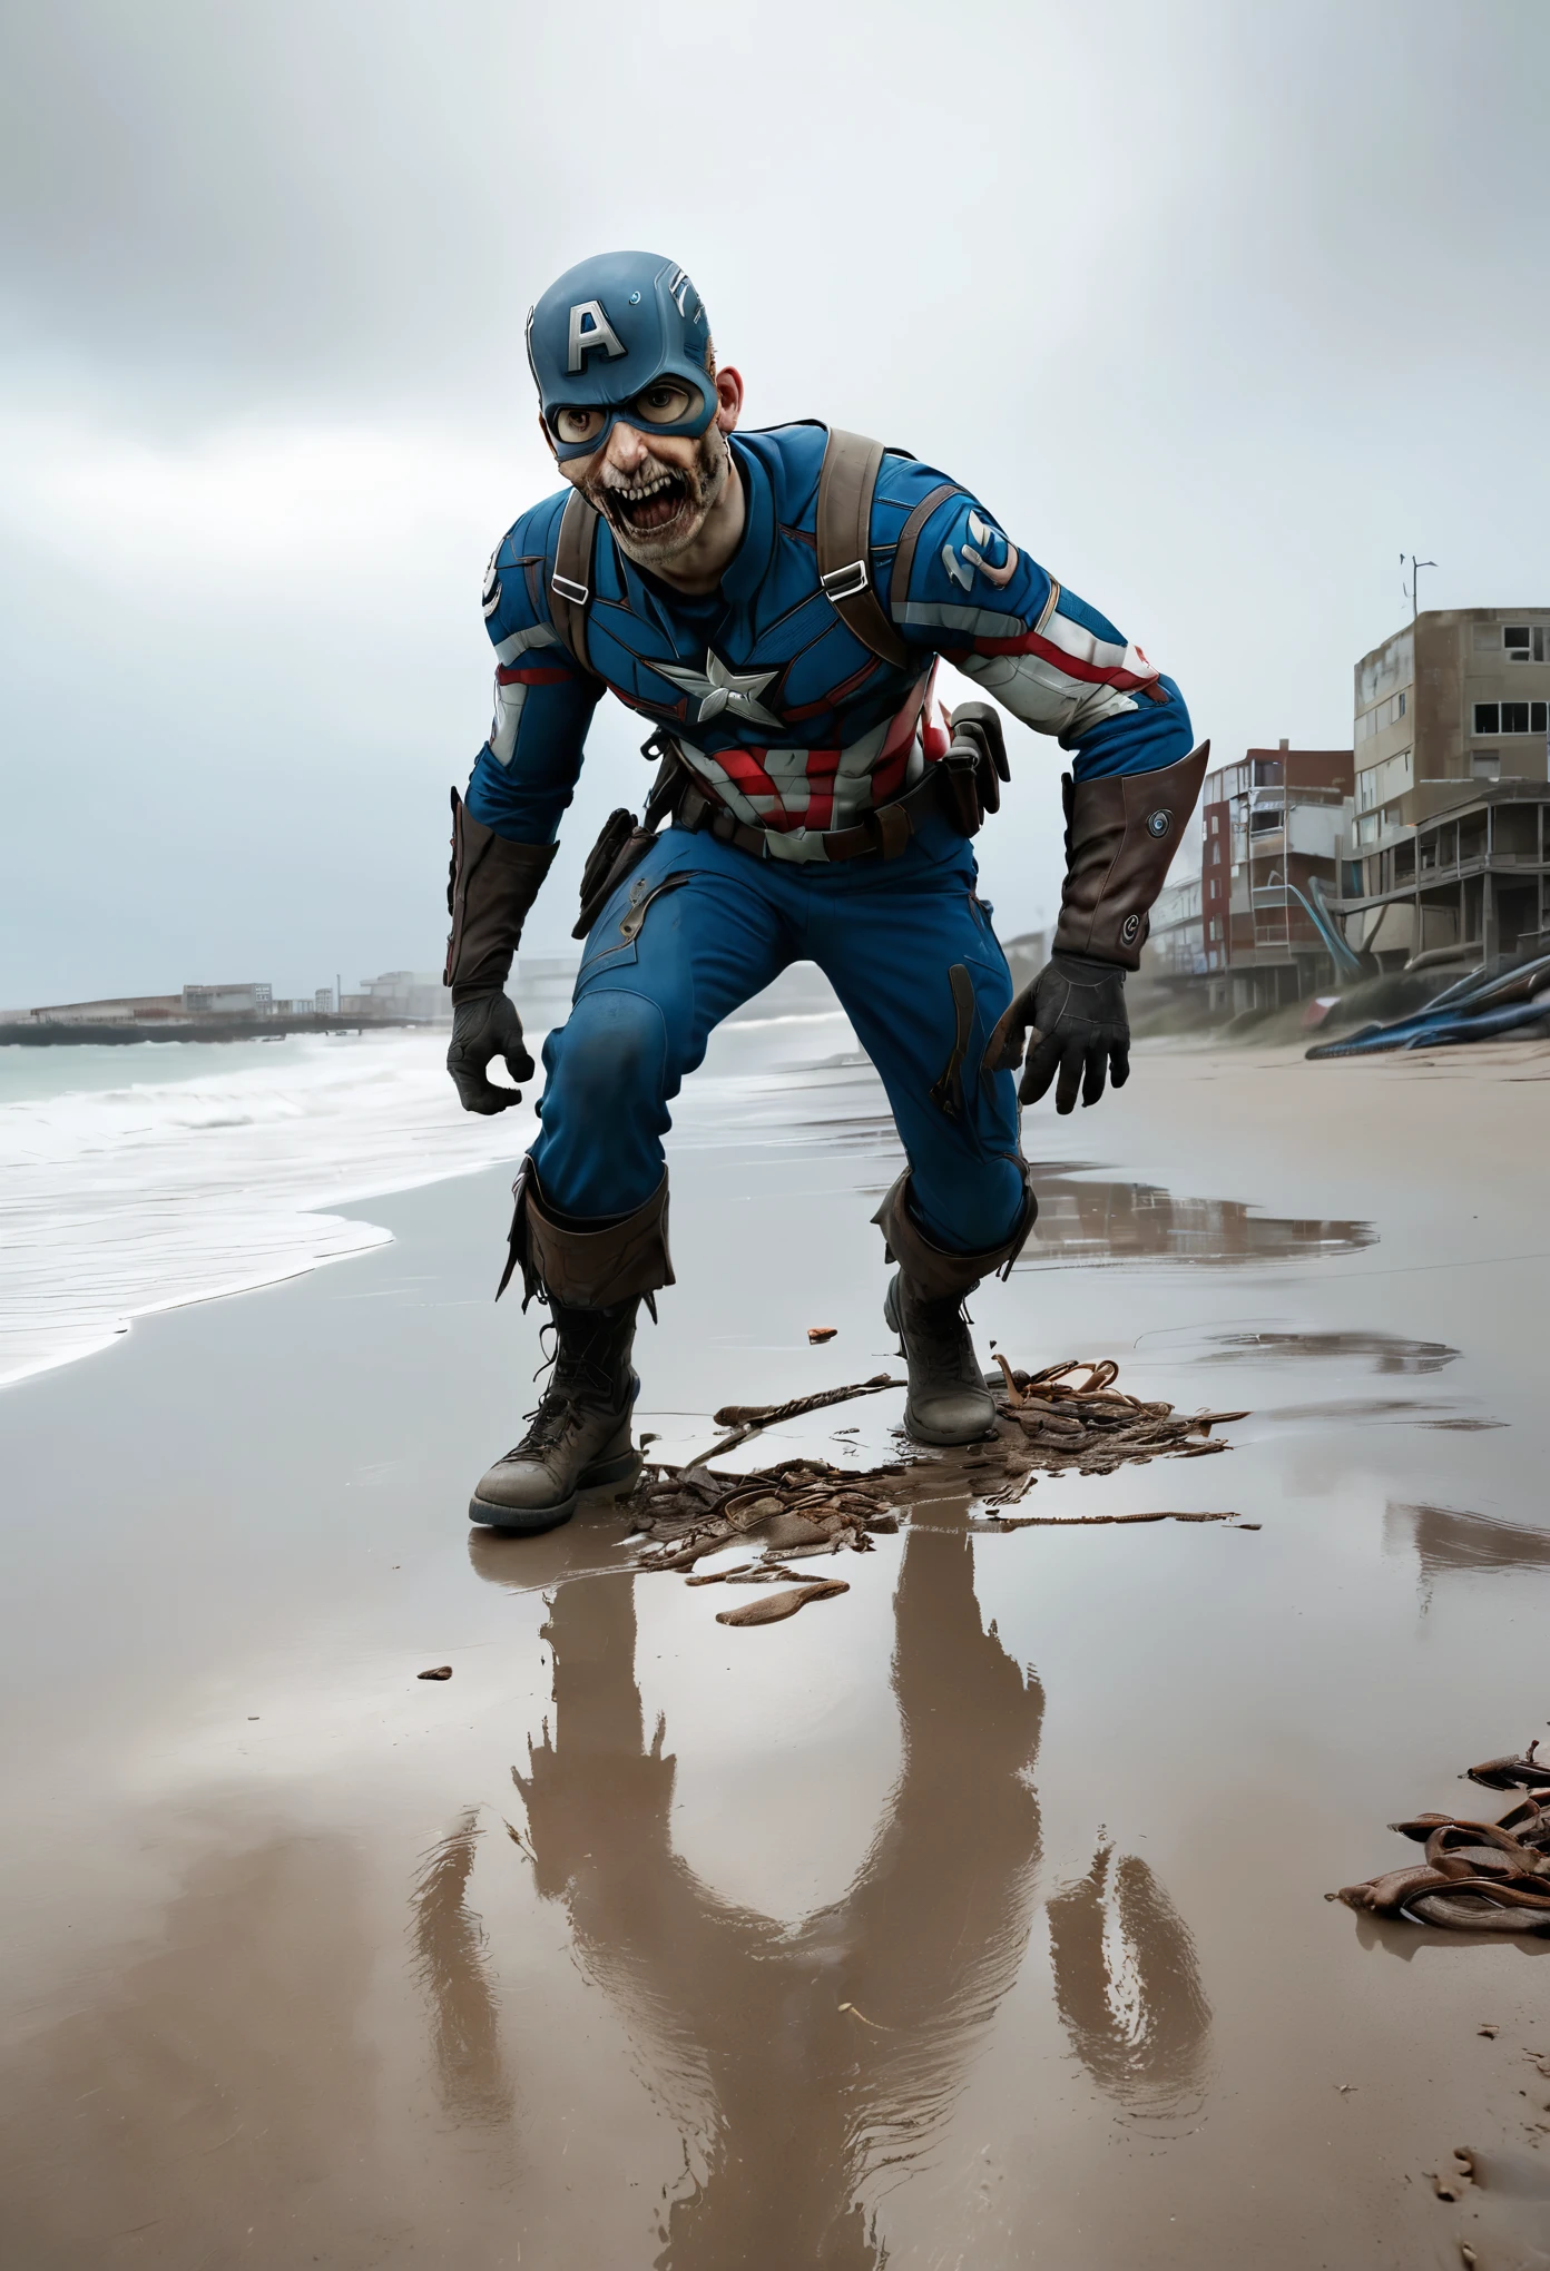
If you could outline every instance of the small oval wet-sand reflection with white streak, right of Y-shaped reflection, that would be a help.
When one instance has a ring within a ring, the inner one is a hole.
[[[1050,1901],[1055,2003],[1100,2089],[1132,2114],[1193,2112],[1211,2005],[1195,1944],[1150,1867],[1100,1844],[1089,1874]]]

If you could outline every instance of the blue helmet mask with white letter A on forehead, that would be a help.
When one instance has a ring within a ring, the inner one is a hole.
[[[657,252],[598,252],[566,268],[527,316],[527,361],[561,461],[591,456],[620,418],[650,434],[698,436],[716,416],[705,302],[684,270]],[[632,418],[639,395],[661,379],[695,388],[693,416],[666,425]],[[564,409],[607,416],[586,441],[561,441],[555,418]]]

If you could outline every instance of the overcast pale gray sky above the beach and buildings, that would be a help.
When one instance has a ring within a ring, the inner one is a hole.
[[[523,318],[648,245],[748,422],[975,486],[1216,752],[1345,745],[1423,604],[1545,604],[1543,0],[7,0],[0,1004],[439,963]],[[559,945],[639,729],[600,713]],[[1059,890],[1014,731],[1002,936]]]

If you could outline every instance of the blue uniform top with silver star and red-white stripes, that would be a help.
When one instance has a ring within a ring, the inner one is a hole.
[[[968,491],[952,486],[930,513],[909,588],[893,590],[900,531],[943,486],[909,456],[884,456],[870,525],[873,584],[909,663],[895,668],[861,645],[818,584],[825,438],[811,425],[730,436],[748,518],[707,597],[641,572],[598,522],[586,618],[595,674],[573,661],[548,604],[568,491],[523,513],[484,586],[495,718],[468,783],[475,820],[518,843],[552,843],[609,688],[675,740],[711,799],[768,829],[770,849],[820,856],[820,831],[855,827],[943,754],[948,734],[932,704],[939,656],[1025,724],[1059,736],[1077,779],[1189,754],[1189,711],[1173,679],[1020,552]]]

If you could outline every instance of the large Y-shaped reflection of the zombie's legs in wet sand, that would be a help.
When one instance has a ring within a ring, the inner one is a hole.
[[[630,1585],[555,1597],[555,1726],[514,1778],[539,1892],[564,1901],[686,2135],[664,2271],[882,2264],[868,2180],[936,2135],[1016,1978],[1043,1692],[980,1621],[961,1526],[907,1537],[895,1612],[900,1778],[845,1896],[784,1926],[673,1853],[675,1760],[661,1726],[645,1742]]]

